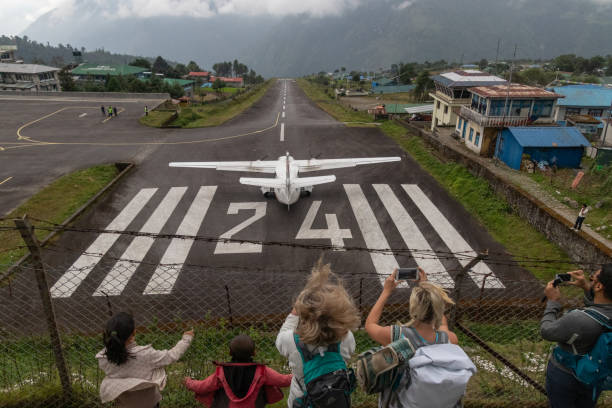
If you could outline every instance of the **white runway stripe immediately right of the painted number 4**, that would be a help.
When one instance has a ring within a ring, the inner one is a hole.
[[[357,219],[357,225],[359,225],[366,247],[368,249],[389,248],[387,238],[385,238],[359,184],[344,184],[344,190]],[[399,267],[392,253],[370,252],[370,257],[381,284],[384,283],[387,275],[390,275],[395,268]]]

